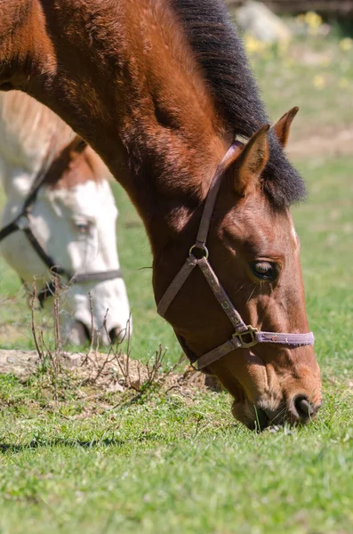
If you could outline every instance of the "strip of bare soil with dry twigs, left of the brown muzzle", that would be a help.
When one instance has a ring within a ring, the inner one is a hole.
[[[144,365],[125,354],[94,352],[87,356],[81,352],[61,352],[55,361],[49,359],[44,362],[36,351],[0,350],[0,374],[12,374],[22,382],[26,382],[44,363],[58,372],[69,371],[83,384],[91,384],[106,392],[139,391],[146,384],[157,384],[166,391],[175,389],[184,393],[221,391],[217,378],[204,375],[189,365],[184,366],[181,372],[173,368],[162,372],[158,360]]]

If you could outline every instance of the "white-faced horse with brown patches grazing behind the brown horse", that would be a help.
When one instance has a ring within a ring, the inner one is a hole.
[[[36,277],[46,308],[52,276],[60,274],[68,285],[60,325],[73,344],[91,338],[92,325],[108,343],[129,321],[107,178],[100,158],[51,110],[23,93],[0,93],[0,179],[7,198],[0,249],[26,285]]]

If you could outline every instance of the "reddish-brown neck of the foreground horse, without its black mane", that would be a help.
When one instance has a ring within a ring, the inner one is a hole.
[[[43,9],[47,77],[28,89],[105,160],[156,253],[184,230],[229,144],[188,40],[165,1],[64,0]]]

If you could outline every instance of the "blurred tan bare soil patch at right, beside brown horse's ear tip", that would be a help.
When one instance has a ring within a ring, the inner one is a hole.
[[[293,158],[315,158],[353,154],[353,125],[337,130],[325,128],[309,132],[298,141],[289,143],[288,153]]]

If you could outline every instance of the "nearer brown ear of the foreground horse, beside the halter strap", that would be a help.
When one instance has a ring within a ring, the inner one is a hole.
[[[253,134],[236,161],[236,189],[246,196],[258,185],[260,174],[269,161],[269,125]]]

